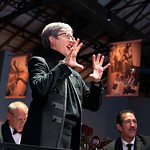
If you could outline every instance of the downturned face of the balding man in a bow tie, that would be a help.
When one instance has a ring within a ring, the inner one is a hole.
[[[7,113],[7,119],[9,125],[16,129],[18,132],[23,130],[24,124],[27,120],[28,112],[27,109],[16,109],[12,113]]]

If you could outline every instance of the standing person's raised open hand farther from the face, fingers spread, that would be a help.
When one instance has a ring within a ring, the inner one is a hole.
[[[102,67],[104,56],[101,57],[101,54],[97,55],[97,58],[95,55],[92,56],[92,62],[93,62],[93,73],[91,73],[89,76],[92,78],[94,82],[100,81],[103,71],[110,66],[110,63],[108,63],[106,66]]]

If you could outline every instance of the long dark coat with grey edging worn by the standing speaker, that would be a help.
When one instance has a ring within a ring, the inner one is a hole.
[[[28,62],[29,83],[33,100],[24,126],[21,144],[59,148],[64,126],[67,100],[67,82],[72,83],[79,105],[97,111],[103,88],[86,86],[81,76],[63,63],[60,53],[49,50],[47,57],[32,57]],[[79,149],[81,117],[74,132],[74,148]]]

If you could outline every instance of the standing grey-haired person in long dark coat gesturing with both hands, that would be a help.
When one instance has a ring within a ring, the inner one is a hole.
[[[28,62],[33,100],[21,143],[79,150],[82,108],[99,109],[103,93],[100,79],[110,64],[102,67],[104,56],[92,56],[89,88],[73,70],[84,67],[76,61],[83,43],[75,40],[72,28],[50,23],[41,37],[47,55],[33,56]]]

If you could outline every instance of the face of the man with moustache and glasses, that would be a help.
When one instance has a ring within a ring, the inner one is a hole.
[[[121,132],[121,137],[125,141],[131,142],[137,131],[136,118],[132,113],[124,113],[122,114],[122,120],[122,126],[117,124],[117,128]]]

